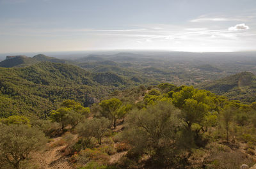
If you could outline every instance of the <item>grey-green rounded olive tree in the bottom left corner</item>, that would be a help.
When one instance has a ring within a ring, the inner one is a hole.
[[[44,133],[24,124],[0,124],[0,158],[3,166],[20,168],[20,163],[28,159],[32,151],[42,149],[47,139]],[[8,168],[8,167],[6,167]]]

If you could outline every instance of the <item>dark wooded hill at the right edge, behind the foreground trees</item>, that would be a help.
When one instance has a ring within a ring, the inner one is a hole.
[[[206,82],[197,87],[227,96],[229,99],[238,99],[244,103],[256,101],[256,76],[246,71]]]

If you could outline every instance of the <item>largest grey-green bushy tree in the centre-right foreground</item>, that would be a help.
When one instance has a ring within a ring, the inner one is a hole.
[[[180,111],[168,101],[159,101],[127,116],[127,128],[122,133],[124,142],[131,144],[129,154],[147,154],[161,165],[170,165],[179,154],[177,142]]]

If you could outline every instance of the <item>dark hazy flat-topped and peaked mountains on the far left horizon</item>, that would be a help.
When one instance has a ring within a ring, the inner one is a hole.
[[[13,55],[13,56],[6,56],[4,61],[0,62],[0,67],[4,68],[12,68],[12,67],[25,67],[31,66],[32,64],[36,64],[37,62],[60,62],[64,63],[65,60],[57,59],[55,57],[49,57],[44,54],[38,54],[34,57],[28,57],[26,55]]]

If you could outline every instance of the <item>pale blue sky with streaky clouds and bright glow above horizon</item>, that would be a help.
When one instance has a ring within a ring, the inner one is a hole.
[[[0,0],[0,53],[256,50],[256,0]]]

